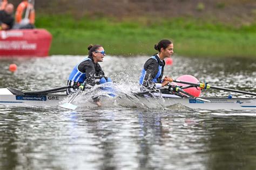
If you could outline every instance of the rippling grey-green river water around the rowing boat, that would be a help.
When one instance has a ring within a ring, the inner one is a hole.
[[[106,56],[100,65],[123,85],[120,91],[137,90],[147,58]],[[1,59],[0,88],[65,86],[82,59]],[[9,72],[10,63],[18,66],[15,73]],[[256,92],[256,59],[174,56],[165,73],[174,78],[190,74],[214,86]],[[201,95],[228,94],[208,90]],[[0,136],[0,169],[256,169],[255,111],[149,109],[114,101],[77,111],[1,107]]]

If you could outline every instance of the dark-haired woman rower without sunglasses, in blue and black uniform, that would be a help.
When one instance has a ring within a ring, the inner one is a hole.
[[[146,89],[158,89],[172,82],[172,78],[169,76],[165,76],[164,79],[162,78],[165,66],[164,59],[172,56],[173,43],[170,40],[163,39],[157,45],[154,45],[154,49],[159,53],[154,54],[145,62],[139,79],[139,84],[143,91]]]

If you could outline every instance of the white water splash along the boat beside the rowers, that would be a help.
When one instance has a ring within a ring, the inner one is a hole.
[[[93,108],[97,107],[97,104],[93,102],[93,98],[99,97],[103,107],[117,108],[162,108],[164,104],[164,98],[154,96],[154,100],[141,100],[136,93],[140,92],[138,84],[134,83],[104,83],[98,84],[90,89],[85,89],[80,95],[76,97],[73,104],[78,105],[80,108]],[[70,96],[71,97],[71,96]],[[66,98],[62,103],[70,100]]]

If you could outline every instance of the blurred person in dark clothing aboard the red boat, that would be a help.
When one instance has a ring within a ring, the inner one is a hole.
[[[4,10],[0,11],[0,30],[10,30],[14,25],[14,5],[6,4]]]

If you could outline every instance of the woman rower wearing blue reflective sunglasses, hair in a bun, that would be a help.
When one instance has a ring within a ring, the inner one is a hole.
[[[102,84],[105,82],[111,82],[111,79],[105,77],[105,74],[98,62],[103,62],[103,58],[106,55],[104,48],[101,45],[89,45],[89,56],[80,61],[72,70],[69,75],[68,88],[66,94],[75,93],[80,84],[86,84],[95,86],[95,84]],[[93,101],[100,106],[99,98],[93,98]]]

